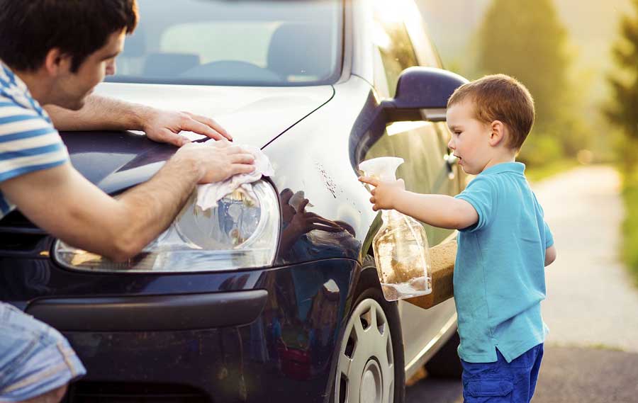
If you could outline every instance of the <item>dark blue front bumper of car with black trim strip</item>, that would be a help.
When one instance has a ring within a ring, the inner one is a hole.
[[[55,268],[50,283],[76,287],[30,300],[26,312],[62,331],[86,366],[73,403],[162,402],[159,390],[200,399],[167,402],[323,402],[357,265],[163,276]]]

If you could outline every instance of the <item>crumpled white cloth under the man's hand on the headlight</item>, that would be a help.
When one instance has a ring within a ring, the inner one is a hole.
[[[215,141],[215,140],[209,140]],[[208,142],[206,142],[208,143]],[[233,193],[235,190],[240,189],[247,197],[253,202],[257,203],[257,195],[252,190],[252,183],[259,181],[262,176],[273,176],[274,169],[270,164],[270,160],[257,147],[248,145],[238,145],[242,149],[245,149],[250,154],[254,155],[254,171],[250,174],[237,174],[231,176],[225,181],[216,183],[206,183],[206,185],[197,186],[197,205],[201,210],[208,210],[209,208],[217,207],[217,202],[224,198],[225,195]]]

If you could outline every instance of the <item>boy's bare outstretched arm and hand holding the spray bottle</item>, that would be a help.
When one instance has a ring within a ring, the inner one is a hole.
[[[463,229],[478,222],[478,213],[465,200],[405,191],[403,179],[379,181],[362,176],[359,181],[376,186],[370,198],[375,211],[393,209],[434,227],[449,229]]]

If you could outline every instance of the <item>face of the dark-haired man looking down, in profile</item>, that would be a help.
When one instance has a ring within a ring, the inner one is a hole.
[[[101,83],[105,76],[115,74],[115,59],[123,50],[124,37],[125,30],[112,33],[103,47],[86,57],[77,72],[73,73],[70,69],[62,72],[51,91],[51,103],[67,109],[81,109],[86,96],[95,86]]]

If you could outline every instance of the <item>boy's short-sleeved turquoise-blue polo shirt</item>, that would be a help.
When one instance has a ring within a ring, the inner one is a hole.
[[[545,339],[545,249],[554,244],[543,209],[525,178],[525,164],[497,164],[456,196],[478,212],[461,229],[454,268],[461,345],[469,363],[511,362]]]

